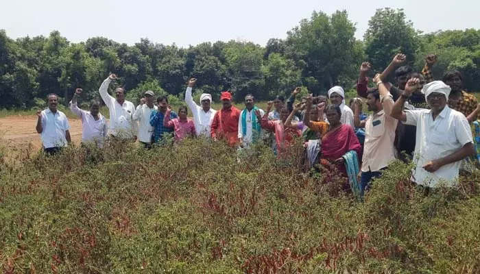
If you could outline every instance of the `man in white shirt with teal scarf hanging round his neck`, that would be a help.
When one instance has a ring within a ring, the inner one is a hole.
[[[240,147],[250,147],[253,142],[261,140],[261,126],[260,121],[256,119],[255,110],[259,110],[262,117],[265,114],[263,110],[255,106],[253,95],[246,95],[245,109],[240,112],[239,118]]]

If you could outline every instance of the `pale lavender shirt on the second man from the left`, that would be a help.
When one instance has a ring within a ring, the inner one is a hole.
[[[82,119],[82,142],[97,142],[103,147],[103,140],[107,136],[107,121],[105,117],[98,114],[99,119],[95,120],[89,111],[78,108],[77,103],[70,101],[70,110]]]

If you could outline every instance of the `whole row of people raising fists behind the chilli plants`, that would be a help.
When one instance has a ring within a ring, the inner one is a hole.
[[[369,87],[366,76],[370,64],[363,62],[357,82],[359,97],[345,101],[344,89],[334,86],[325,96],[308,95],[295,103],[301,88],[295,88],[285,101],[282,96],[267,103],[267,109],[256,107],[253,95],[245,96],[245,109],[232,105],[230,92],[221,92],[221,110],[211,108],[212,96],[200,95],[200,105],[192,97],[196,79],[189,79],[185,92],[187,106],[171,110],[168,98],[147,90],[140,104],[125,100],[125,90],[108,87],[117,76],[112,74],[101,84],[99,95],[110,112],[110,121],[99,113],[100,103],[92,101],[90,110],[81,110],[75,90],[70,101],[72,112],[82,119],[82,142],[104,145],[107,136],[138,140],[146,149],[173,136],[179,144],[184,138],[202,136],[226,140],[239,151],[252,144],[270,140],[278,158],[288,158],[286,151],[302,138],[304,161],[308,169],[323,166],[335,169],[345,178],[345,189],[363,196],[372,179],[381,176],[396,159],[413,161],[411,181],[425,188],[440,182],[455,184],[461,166],[480,162],[480,104],[475,96],[461,90],[461,74],[445,73],[434,81],[431,67],[435,55],[428,55],[421,73],[403,66],[406,56],[398,54],[387,69],[373,78]],[[394,73],[395,84],[383,82]],[[371,85],[370,85],[371,86]],[[363,103],[371,114],[363,113]],[[48,96],[48,108],[38,111],[36,130],[41,134],[47,153],[56,153],[71,142],[70,125],[64,113],[57,110],[58,97]],[[189,110],[192,119],[189,119]],[[472,132],[473,125],[474,131]]]

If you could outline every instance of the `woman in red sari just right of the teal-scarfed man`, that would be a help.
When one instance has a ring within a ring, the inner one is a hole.
[[[266,129],[269,132],[274,132],[276,141],[275,152],[280,158],[280,154],[283,153],[287,147],[293,144],[295,137],[302,136],[302,132],[296,127],[285,126],[285,121],[287,121],[287,118],[290,114],[286,105],[284,105],[283,108],[280,108],[280,120],[270,121],[268,118],[268,113],[270,112],[270,109],[272,109],[272,105],[274,105],[273,101],[269,101],[267,103],[267,111],[263,117],[261,117],[261,113],[259,111],[256,111],[255,114],[256,118],[261,121],[260,125],[263,129]]]

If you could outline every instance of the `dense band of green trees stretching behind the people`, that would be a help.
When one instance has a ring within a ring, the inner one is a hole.
[[[214,99],[221,90],[237,100],[247,93],[268,99],[294,86],[320,94],[333,85],[354,88],[361,61],[372,62],[374,73],[400,51],[418,71],[424,56],[436,53],[435,77],[457,69],[466,90],[480,90],[480,29],[422,34],[403,10],[385,8],[372,16],[363,41],[354,35],[346,11],[313,12],[287,38],[272,38],[265,47],[232,40],[180,48],[147,39],[129,46],[103,37],[72,43],[57,31],[13,40],[0,30],[0,108],[43,106],[51,92],[65,103],[78,87],[86,99],[97,98],[108,73],[121,77],[134,102],[146,89],[180,100],[189,77],[198,79],[197,94]]]

